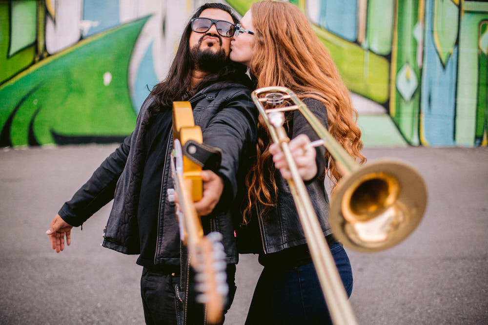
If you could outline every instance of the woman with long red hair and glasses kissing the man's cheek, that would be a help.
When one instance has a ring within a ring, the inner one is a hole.
[[[230,58],[247,65],[256,87],[291,89],[328,128],[332,136],[359,162],[361,131],[356,125],[348,91],[325,47],[305,15],[288,2],[261,1],[237,25]],[[341,275],[348,296],[352,271],[346,251],[331,233],[324,179],[332,191],[341,174],[298,112],[286,115],[290,149],[305,181],[313,208]],[[327,324],[330,316],[307,249],[293,198],[285,178],[287,163],[260,119],[256,155],[246,176],[247,200],[237,235],[241,252],[259,253],[264,266],[246,324]]]

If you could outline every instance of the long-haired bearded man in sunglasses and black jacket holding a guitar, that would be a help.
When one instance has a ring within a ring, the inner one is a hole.
[[[205,231],[223,235],[227,309],[234,298],[238,254],[229,210],[243,191],[244,165],[257,133],[246,68],[228,58],[237,22],[230,7],[220,3],[206,3],[197,10],[185,27],[168,76],[142,104],[134,132],[62,206],[46,231],[52,248],[59,252],[64,237],[70,244],[73,226],[80,226],[114,199],[102,245],[139,254],[136,263],[143,267],[141,296],[147,324],[180,322],[184,299],[180,292],[184,249],[180,249],[175,206],[166,194],[174,187],[170,171],[173,101],[191,103],[203,143],[222,152],[220,166],[202,172],[203,199],[195,207],[203,216]],[[186,323],[203,323],[203,307],[191,299],[187,302]]]

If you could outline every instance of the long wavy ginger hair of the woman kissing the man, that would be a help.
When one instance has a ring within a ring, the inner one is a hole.
[[[332,58],[305,15],[297,6],[279,1],[253,3],[251,13],[255,40],[250,72],[257,80],[257,88],[283,86],[302,100],[307,97],[320,100],[327,109],[330,134],[353,158],[364,163],[357,112]],[[262,204],[261,216],[265,216],[278,196],[275,168],[268,151],[269,134],[261,116],[256,147],[256,160],[246,175],[248,202],[244,224],[249,222],[254,204]],[[329,153],[325,153],[325,160],[325,172],[333,189],[341,174]]]

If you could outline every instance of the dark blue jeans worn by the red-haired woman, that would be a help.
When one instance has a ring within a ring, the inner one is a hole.
[[[337,242],[330,252],[349,297],[352,292],[349,258]],[[332,324],[313,263],[289,269],[265,267],[245,324]]]

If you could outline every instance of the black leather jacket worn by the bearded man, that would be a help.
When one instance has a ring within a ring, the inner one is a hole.
[[[203,217],[205,230],[220,231],[227,255],[227,263],[237,263],[234,227],[229,206],[236,199],[238,186],[244,179],[241,163],[253,151],[256,142],[257,111],[250,99],[250,90],[241,83],[214,83],[190,98],[195,124],[202,128],[203,143],[222,150],[222,163],[217,173],[224,179],[224,195],[214,211]],[[136,128],[93,173],[71,201],[66,202],[59,214],[73,226],[81,225],[94,212],[114,199],[104,232],[103,246],[125,254],[139,254],[137,213],[131,205],[143,191],[134,190],[134,182],[142,175],[135,171],[134,163],[142,157],[135,150],[142,120],[153,99],[142,104]],[[158,238],[155,264],[180,264],[180,234],[174,204],[167,199],[167,189],[173,188],[170,171],[170,153],[173,148],[168,138],[163,170],[158,219]],[[114,195],[115,191],[115,195]],[[137,209],[135,209],[137,211]],[[132,212],[131,212],[132,211]]]

